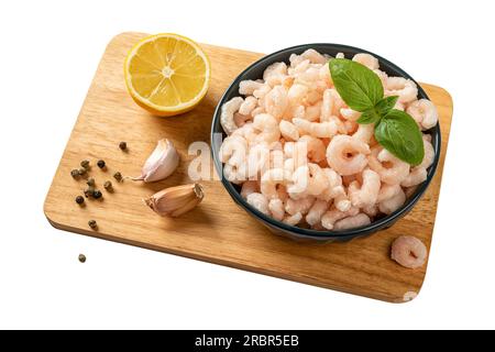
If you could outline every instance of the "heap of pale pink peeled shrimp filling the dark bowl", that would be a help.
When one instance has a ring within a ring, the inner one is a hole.
[[[424,161],[410,166],[380,145],[374,124],[359,124],[361,113],[336,90],[329,59],[308,50],[290,55],[289,65],[268,66],[263,79],[241,81],[244,98],[221,108],[228,136],[219,155],[224,177],[258,211],[290,226],[343,230],[399,209],[426,180],[435,150],[424,133]],[[413,80],[388,77],[370,54],[352,59],[380,77],[386,97],[399,97],[395,109],[422,131],[437,124],[435,105],[418,100]]]

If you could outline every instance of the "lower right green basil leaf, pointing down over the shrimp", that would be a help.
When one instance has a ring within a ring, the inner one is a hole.
[[[399,160],[419,165],[425,157],[422,135],[416,121],[406,112],[393,109],[375,127],[375,139]]]

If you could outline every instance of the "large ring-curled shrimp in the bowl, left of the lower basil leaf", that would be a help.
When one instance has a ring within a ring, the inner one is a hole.
[[[340,175],[361,173],[367,164],[370,146],[349,135],[336,135],[327,147],[327,162]]]

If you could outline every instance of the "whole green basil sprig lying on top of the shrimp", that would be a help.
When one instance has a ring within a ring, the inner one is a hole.
[[[384,98],[380,77],[360,63],[333,58],[329,66],[343,101],[361,112],[358,123],[374,123],[375,139],[384,148],[410,165],[420,164],[425,156],[422,134],[408,113],[394,109],[398,97]]]

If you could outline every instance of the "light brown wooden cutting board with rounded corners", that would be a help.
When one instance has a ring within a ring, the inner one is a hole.
[[[272,234],[240,209],[219,180],[204,182],[206,198],[195,210],[178,219],[157,217],[142,198],[167,186],[189,183],[187,176],[191,142],[209,143],[210,124],[217,101],[232,79],[262,54],[202,45],[211,59],[211,87],[191,112],[174,118],[156,118],[139,108],[128,95],[123,62],[129,48],[144,34],[123,33],[108,45],[89,88],[76,125],[45,200],[44,211],[57,229],[151,250],[188,256],[310,285],[400,302],[406,293],[418,293],[426,265],[407,270],[389,258],[391,243],[398,235],[414,234],[430,248],[440,182],[452,116],[452,99],[439,87],[421,85],[440,113],[442,155],[428,191],[414,210],[394,227],[372,237],[346,243],[298,243]],[[157,140],[168,138],[179,150],[182,163],[168,179],[156,184],[124,182],[111,175],[139,175]],[[120,141],[129,145],[119,150]],[[103,190],[102,200],[75,202],[84,180],[70,177],[81,160],[94,165],[90,176],[102,189],[111,179],[114,193]],[[108,169],[95,166],[102,158]],[[88,220],[98,222],[98,231]],[[431,283],[432,284],[432,283]]]

